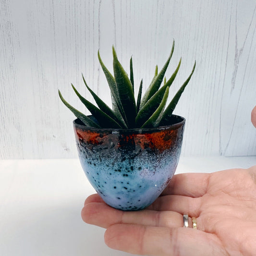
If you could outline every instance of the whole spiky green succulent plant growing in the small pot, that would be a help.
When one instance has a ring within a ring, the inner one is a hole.
[[[146,89],[142,97],[142,84],[141,80],[137,100],[134,97],[134,73],[133,73],[133,60],[130,59],[130,77],[123,69],[121,63],[118,61],[116,51],[113,51],[113,71],[114,76],[103,64],[99,51],[98,60],[102,67],[103,72],[107,78],[110,87],[112,109],[105,104],[96,93],[94,93],[85,82],[85,86],[93,96],[98,107],[85,99],[72,84],[73,90],[80,100],[84,103],[85,107],[91,112],[91,116],[86,116],[80,111],[74,109],[61,95],[59,96],[62,102],[73,112],[73,114],[80,119],[86,126],[96,128],[119,128],[119,129],[133,129],[133,128],[154,128],[163,125],[171,124],[172,112],[175,109],[186,85],[188,84],[192,74],[195,70],[195,64],[192,72],[187,80],[180,87],[176,95],[172,98],[170,104],[165,108],[169,95],[169,88],[174,81],[180,65],[181,59],[174,73],[170,79],[166,81],[165,72],[171,61],[174,50],[174,40],[171,48],[171,53],[164,64],[161,71],[158,73],[158,66],[155,69],[155,75],[152,82]],[[161,86],[161,84],[163,84]]]

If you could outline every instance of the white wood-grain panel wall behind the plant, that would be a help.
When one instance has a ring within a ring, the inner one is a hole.
[[[0,158],[76,158],[71,83],[81,73],[98,95],[110,95],[97,58],[111,69],[111,46],[135,84],[148,85],[176,47],[183,57],[174,93],[193,78],[176,114],[187,120],[184,156],[256,155],[255,0],[0,0]],[[144,88],[145,89],[145,88]],[[136,92],[138,86],[136,87]]]

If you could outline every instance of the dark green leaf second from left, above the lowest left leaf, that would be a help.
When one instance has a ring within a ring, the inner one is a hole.
[[[113,120],[110,116],[108,116],[106,113],[104,113],[102,110],[98,109],[96,106],[94,106],[90,101],[85,99],[72,85],[74,92],[80,98],[80,100],[83,102],[85,107],[91,112],[91,114],[97,119],[101,127],[105,128],[122,128],[119,123],[117,123],[115,120]]]

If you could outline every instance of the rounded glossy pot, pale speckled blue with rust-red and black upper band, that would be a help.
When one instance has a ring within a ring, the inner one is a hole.
[[[181,152],[185,119],[152,129],[98,129],[73,121],[81,165],[102,199],[120,210],[140,210],[170,182]]]

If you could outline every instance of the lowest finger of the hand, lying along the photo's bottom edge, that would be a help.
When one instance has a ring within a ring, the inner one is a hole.
[[[104,238],[110,248],[139,255],[227,255],[215,235],[190,228],[117,224]]]

